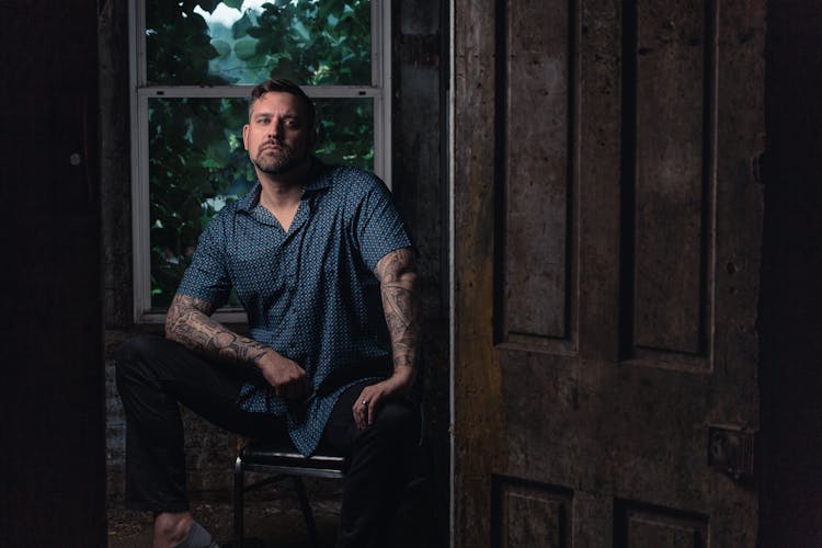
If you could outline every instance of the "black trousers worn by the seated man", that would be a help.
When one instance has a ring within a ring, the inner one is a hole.
[[[128,507],[189,510],[178,402],[237,434],[288,438],[284,419],[237,407],[242,384],[260,379],[253,368],[213,363],[174,342],[141,335],[118,349],[116,374],[126,413]],[[320,442],[323,450],[350,457],[338,547],[389,546],[391,518],[409,479],[420,433],[419,408],[406,399],[387,402],[373,426],[358,430],[352,407],[364,386],[343,392]]]

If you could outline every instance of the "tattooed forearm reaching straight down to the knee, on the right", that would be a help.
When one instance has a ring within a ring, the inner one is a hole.
[[[411,249],[392,251],[377,263],[383,309],[391,336],[395,373],[407,370],[412,381],[420,349],[420,295],[418,272]]]

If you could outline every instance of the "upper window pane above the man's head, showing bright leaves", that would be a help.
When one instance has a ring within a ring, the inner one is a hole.
[[[367,0],[146,0],[150,85],[372,83]]]

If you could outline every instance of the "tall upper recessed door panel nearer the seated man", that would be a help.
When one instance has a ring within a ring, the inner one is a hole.
[[[537,342],[568,338],[570,47],[567,0],[527,0],[507,13],[504,160],[505,336]],[[533,123],[524,105],[550,116]],[[501,150],[498,150],[498,155]],[[535,219],[539,219],[535,222]],[[535,298],[536,297],[536,298]],[[536,339],[536,341],[534,341]]]

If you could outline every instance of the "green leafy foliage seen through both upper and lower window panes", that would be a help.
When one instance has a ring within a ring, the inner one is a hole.
[[[220,3],[240,9],[242,0],[147,1],[149,84],[252,84],[271,77],[304,85],[370,83],[368,1],[276,0],[262,11],[247,9],[230,27],[206,21]],[[317,156],[372,169],[372,100],[322,99],[317,110]],[[214,214],[255,181],[242,147],[247,117],[243,99],[149,102],[153,307],[169,305]]]

